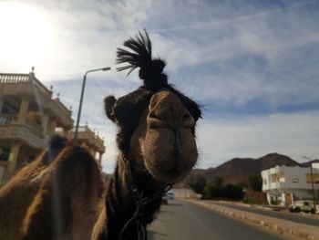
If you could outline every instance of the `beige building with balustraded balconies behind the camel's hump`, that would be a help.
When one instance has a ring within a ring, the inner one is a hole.
[[[72,135],[72,112],[52,95],[52,90],[33,72],[0,73],[0,184],[36,159],[57,131],[64,136]],[[94,135],[93,138],[87,126],[79,133],[83,144],[87,144],[94,155],[98,151],[98,160],[101,160],[104,142]]]

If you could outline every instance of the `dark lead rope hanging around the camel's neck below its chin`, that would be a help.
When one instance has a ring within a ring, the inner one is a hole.
[[[124,158],[124,159],[126,160],[126,164],[127,164],[127,169],[128,169],[128,174],[129,174],[129,182],[131,183],[130,189],[131,189],[131,192],[133,195],[133,200],[136,204],[136,209],[135,209],[133,216],[131,218],[129,218],[128,222],[126,224],[124,224],[124,226],[120,230],[120,232],[118,234],[118,239],[125,240],[124,233],[125,233],[126,229],[129,227],[130,224],[135,222],[137,230],[138,230],[138,239],[139,240],[147,240],[148,235],[147,235],[147,231],[146,231],[146,223],[145,223],[144,217],[143,217],[144,205],[155,201],[156,199],[161,197],[162,194],[170,191],[171,185],[166,185],[163,189],[161,189],[157,193],[154,193],[151,196],[143,198],[143,193],[139,193],[138,188],[134,184],[133,175],[131,172],[129,161],[126,158]]]

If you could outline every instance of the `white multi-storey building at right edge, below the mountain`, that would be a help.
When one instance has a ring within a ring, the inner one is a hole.
[[[319,198],[319,166],[313,164],[315,199]],[[262,171],[262,192],[267,193],[268,203],[289,205],[297,200],[313,200],[310,167],[275,166]]]

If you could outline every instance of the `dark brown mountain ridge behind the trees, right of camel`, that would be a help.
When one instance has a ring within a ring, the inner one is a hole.
[[[190,176],[174,187],[183,187],[192,175],[200,174],[211,183],[212,180],[219,176],[223,183],[239,183],[245,181],[249,175],[261,174],[262,170],[272,168],[276,165],[300,166],[304,165],[293,161],[291,158],[278,153],[270,153],[262,158],[234,158],[228,162],[222,163],[217,168],[207,170],[195,169],[190,172]]]

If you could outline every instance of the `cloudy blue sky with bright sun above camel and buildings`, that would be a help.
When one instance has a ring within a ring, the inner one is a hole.
[[[28,19],[28,20],[27,20]],[[67,106],[92,73],[81,122],[105,137],[111,172],[115,132],[102,100],[139,86],[115,71],[116,47],[144,28],[170,83],[203,106],[197,167],[279,152],[319,158],[318,1],[2,1],[0,71],[28,72]]]

